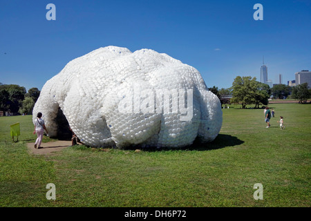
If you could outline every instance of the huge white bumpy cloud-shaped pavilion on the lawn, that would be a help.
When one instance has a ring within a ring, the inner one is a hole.
[[[61,108],[70,128],[93,147],[178,148],[215,139],[220,101],[196,68],[154,50],[99,48],[70,61],[48,80],[33,109],[50,137]]]

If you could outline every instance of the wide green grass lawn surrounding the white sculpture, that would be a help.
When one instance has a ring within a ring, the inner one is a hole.
[[[271,104],[270,128],[262,109],[238,107],[223,109],[223,127],[210,144],[140,153],[76,146],[32,155],[31,116],[0,117],[0,206],[310,207],[311,105]],[[15,122],[19,142],[10,137]],[[48,183],[56,200],[46,199]],[[263,200],[253,198],[256,183]]]

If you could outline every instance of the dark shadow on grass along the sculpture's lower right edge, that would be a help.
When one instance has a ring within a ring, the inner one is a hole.
[[[228,146],[238,146],[243,144],[244,141],[238,139],[238,137],[233,137],[232,135],[218,134],[214,141],[209,143],[201,143],[199,140],[195,140],[193,144],[185,146],[183,148],[156,148],[156,147],[146,147],[142,148],[139,146],[131,146],[126,148],[128,150],[133,150],[135,148],[140,148],[142,151],[173,151],[173,150],[184,150],[184,151],[210,151],[219,148],[225,148]]]

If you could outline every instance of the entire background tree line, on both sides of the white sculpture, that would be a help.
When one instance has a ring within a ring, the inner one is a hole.
[[[311,98],[311,88],[308,88],[308,83],[293,87],[277,84],[270,88],[267,84],[256,81],[256,77],[250,76],[237,76],[230,88],[218,90],[218,87],[213,86],[209,90],[220,99],[221,105],[241,104],[242,108],[250,104],[254,104],[255,108],[259,108],[260,105],[265,106],[270,97],[284,99],[291,95],[291,98],[298,99],[299,103],[306,103]],[[38,88],[30,88],[27,92],[23,86],[0,83],[0,111],[32,114],[39,95]]]

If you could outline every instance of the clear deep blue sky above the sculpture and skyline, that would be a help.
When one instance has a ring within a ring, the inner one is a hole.
[[[56,6],[56,21],[46,5]],[[263,21],[255,21],[255,3]],[[0,82],[41,90],[66,64],[104,46],[150,48],[198,69],[208,87],[237,75],[283,84],[311,70],[310,0],[0,0]]]

